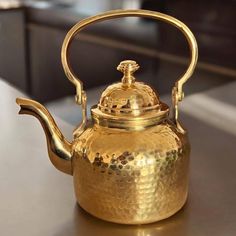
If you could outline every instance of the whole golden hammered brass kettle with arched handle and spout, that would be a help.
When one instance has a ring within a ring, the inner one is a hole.
[[[191,60],[172,90],[172,112],[154,90],[137,82],[139,65],[125,60],[117,67],[121,82],[112,84],[86,115],[86,92],[68,62],[71,40],[85,26],[111,18],[142,16],[162,20],[178,28],[187,38]],[[77,23],[66,35],[62,64],[76,87],[76,102],[83,120],[69,142],[48,110],[36,101],[17,98],[20,114],[41,122],[53,165],[74,178],[79,205],[103,220],[122,224],[145,224],[165,219],[184,205],[188,194],[190,144],[178,121],[178,103],[183,84],[197,62],[197,44],[189,28],[179,20],[147,10],[115,10]],[[171,115],[170,115],[171,114]]]

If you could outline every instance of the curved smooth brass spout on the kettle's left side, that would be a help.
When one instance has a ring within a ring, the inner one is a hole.
[[[71,143],[62,135],[49,111],[40,103],[26,98],[17,98],[16,103],[21,107],[19,114],[33,115],[40,121],[52,164],[58,170],[72,175]]]

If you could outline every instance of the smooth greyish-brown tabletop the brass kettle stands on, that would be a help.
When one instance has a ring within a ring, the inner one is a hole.
[[[194,94],[181,104],[192,144],[190,192],[169,219],[138,226],[84,212],[71,176],[50,163],[38,121],[18,116],[19,91],[0,81],[0,234],[113,236],[236,235],[236,83]],[[73,127],[56,118],[65,136]]]

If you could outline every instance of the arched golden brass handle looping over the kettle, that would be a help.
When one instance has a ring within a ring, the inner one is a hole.
[[[155,11],[148,11],[148,10],[112,10],[108,11],[96,16],[92,16],[89,18],[86,18],[84,20],[81,20],[76,25],[74,25],[70,31],[67,33],[61,50],[61,60],[63,69],[65,71],[65,74],[67,78],[75,85],[76,87],[76,103],[79,105],[82,104],[83,110],[86,107],[86,93],[83,91],[83,83],[79,80],[79,78],[74,74],[69,61],[68,61],[68,48],[71,43],[71,40],[75,37],[77,33],[79,33],[84,27],[94,23],[99,22],[103,20],[113,19],[113,18],[120,18],[120,17],[127,17],[127,16],[140,16],[140,17],[146,17],[146,18],[152,18],[155,20],[161,20],[164,22],[167,22],[173,26],[175,26],[177,29],[179,29],[186,37],[189,49],[191,52],[191,59],[189,66],[185,73],[181,76],[181,78],[175,82],[175,85],[172,89],[172,103],[174,108],[174,120],[176,121],[178,125],[178,103],[182,101],[184,98],[184,93],[182,91],[183,84],[191,77],[193,74],[193,71],[196,67],[197,58],[198,58],[198,47],[197,42],[190,31],[190,29],[181,21],[177,20],[176,18],[160,13]],[[84,116],[86,116],[86,112],[84,111]],[[83,122],[85,122],[86,117],[84,117]]]

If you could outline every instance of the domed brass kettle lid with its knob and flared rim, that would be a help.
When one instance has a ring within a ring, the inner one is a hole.
[[[102,93],[99,104],[91,110],[95,121],[102,118],[113,120],[112,123],[137,123],[153,118],[157,121],[168,114],[169,107],[160,101],[158,94],[150,86],[135,81],[133,73],[138,69],[139,65],[132,60],[118,65],[117,70],[124,74],[122,82],[108,86]]]

